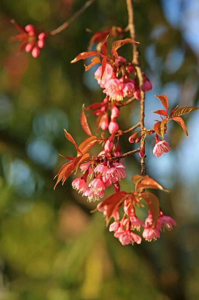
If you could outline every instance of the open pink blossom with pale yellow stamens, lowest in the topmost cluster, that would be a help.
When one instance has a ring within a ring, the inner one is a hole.
[[[123,100],[123,83],[118,78],[110,79],[106,85],[103,93],[109,96],[111,101]]]

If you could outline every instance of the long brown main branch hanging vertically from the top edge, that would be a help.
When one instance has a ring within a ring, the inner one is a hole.
[[[128,10],[128,28],[130,32],[130,36],[133,40],[135,40],[135,26],[134,26],[134,10],[131,0],[126,0],[127,10]],[[136,65],[137,77],[139,79],[139,87],[140,87],[140,127],[144,128],[144,101],[145,101],[145,93],[142,91],[143,85],[143,75],[139,62],[139,52],[137,50],[137,44],[133,43],[133,63]],[[140,143],[140,148],[144,144],[144,136]],[[145,155],[141,158],[141,175],[145,175]]]

